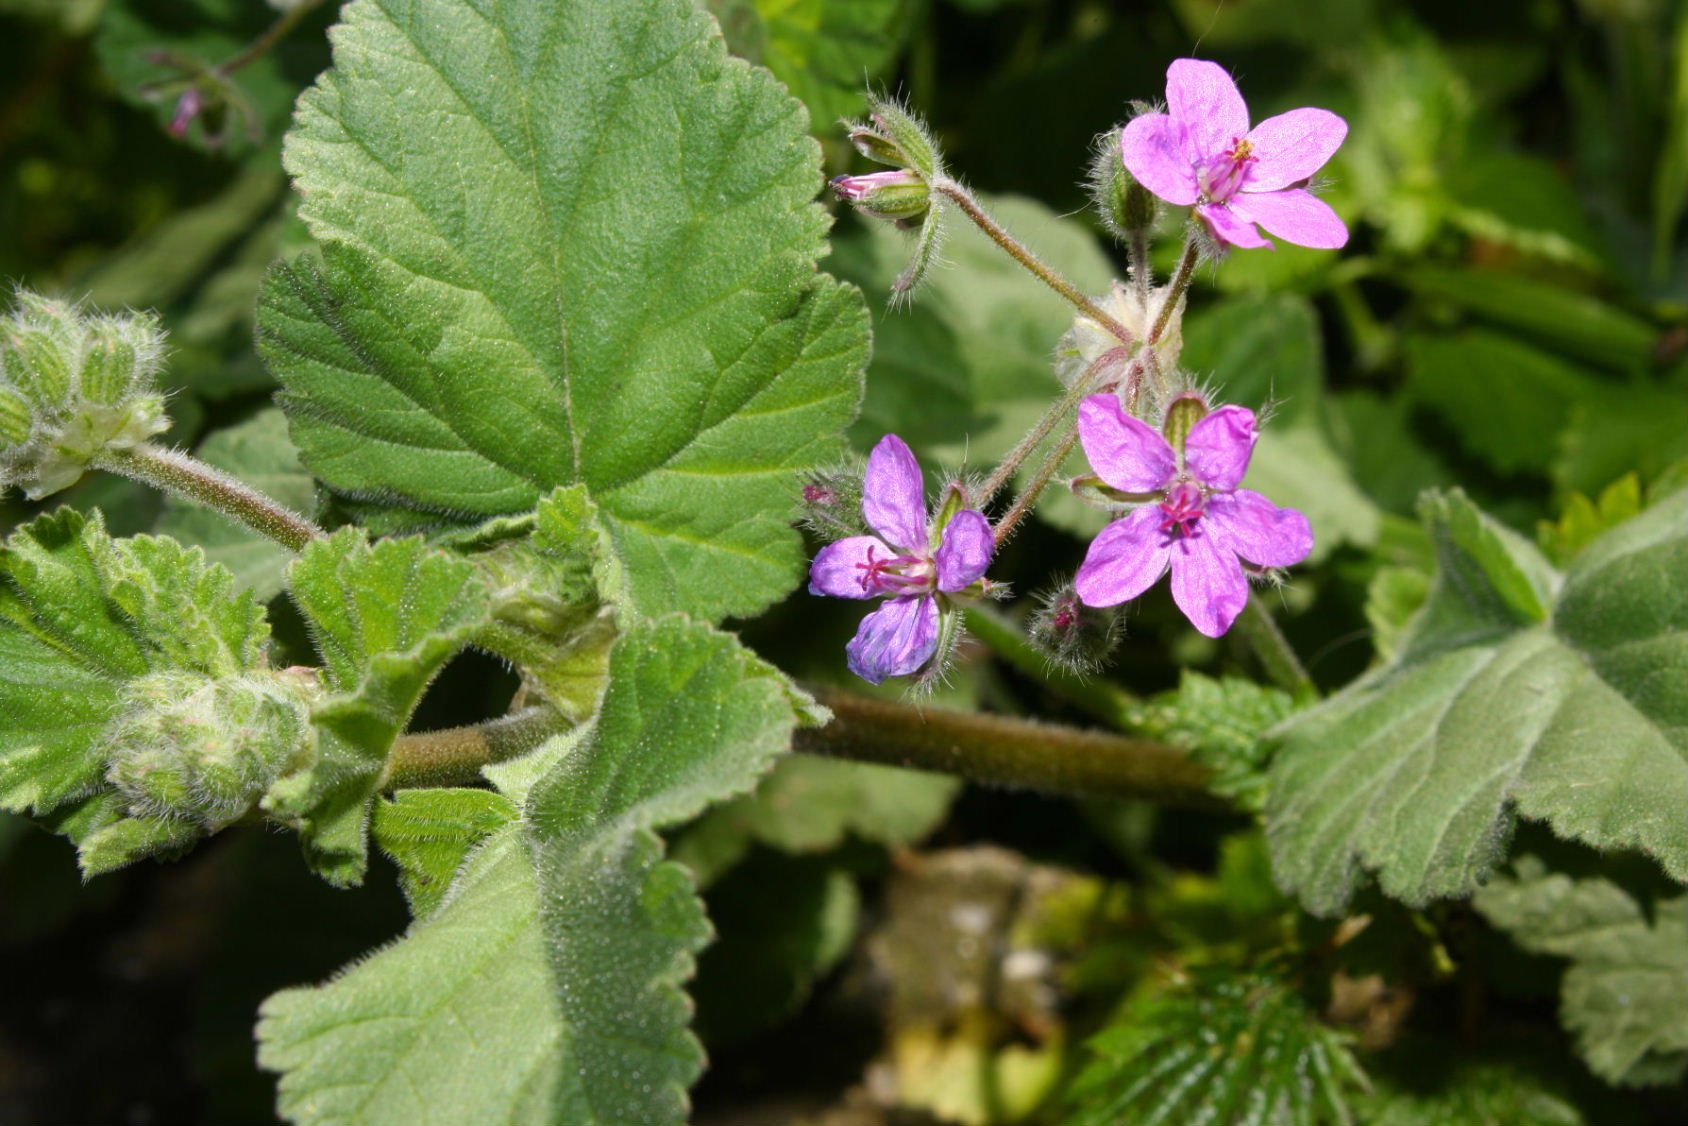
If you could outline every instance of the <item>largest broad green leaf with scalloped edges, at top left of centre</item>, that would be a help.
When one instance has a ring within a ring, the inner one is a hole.
[[[684,0],[343,15],[285,152],[321,263],[260,309],[306,464],[461,522],[584,483],[647,613],[785,594],[868,349],[802,106]]]

